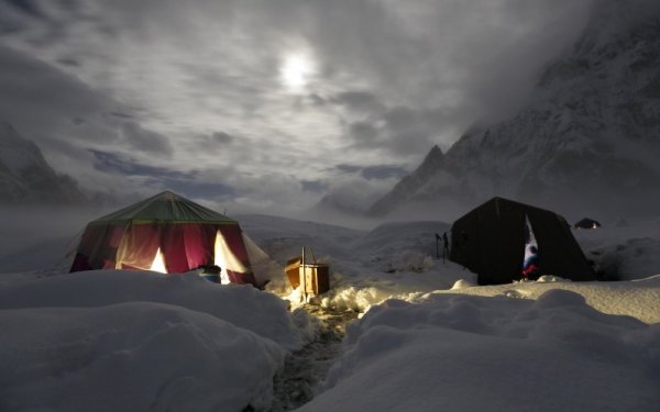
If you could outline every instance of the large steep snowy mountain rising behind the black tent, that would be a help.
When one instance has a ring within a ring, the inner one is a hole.
[[[504,98],[504,97],[503,97]],[[660,3],[598,1],[513,119],[474,129],[371,208],[512,197],[625,214],[660,204]]]

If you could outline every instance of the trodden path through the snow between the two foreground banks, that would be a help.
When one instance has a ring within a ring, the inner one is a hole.
[[[314,387],[326,377],[340,355],[341,342],[349,322],[358,312],[340,311],[312,304],[300,307],[320,321],[314,341],[289,355],[284,370],[275,377],[275,401],[272,411],[292,411],[311,401]]]

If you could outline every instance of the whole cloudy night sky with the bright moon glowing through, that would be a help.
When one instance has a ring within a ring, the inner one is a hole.
[[[510,116],[591,5],[3,0],[0,120],[84,188],[308,208]]]

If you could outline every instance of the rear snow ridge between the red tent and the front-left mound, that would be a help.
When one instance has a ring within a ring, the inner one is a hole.
[[[208,313],[287,349],[304,343],[282,299],[252,286],[222,286],[197,275],[90,270],[0,283],[0,309],[96,308],[134,301]]]

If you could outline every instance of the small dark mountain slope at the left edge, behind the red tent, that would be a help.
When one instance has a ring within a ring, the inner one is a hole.
[[[0,122],[0,203],[57,203],[84,200],[76,181],[58,175],[33,142]]]

